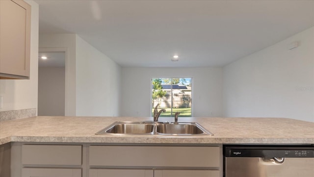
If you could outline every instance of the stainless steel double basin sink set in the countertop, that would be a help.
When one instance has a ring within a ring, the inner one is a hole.
[[[96,135],[210,135],[196,122],[129,122],[117,121],[100,130]]]

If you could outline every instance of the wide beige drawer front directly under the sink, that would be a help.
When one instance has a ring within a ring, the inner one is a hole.
[[[91,166],[219,167],[219,147],[90,146]]]

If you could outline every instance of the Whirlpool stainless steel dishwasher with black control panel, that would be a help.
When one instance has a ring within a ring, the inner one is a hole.
[[[314,145],[224,146],[224,177],[314,177]]]

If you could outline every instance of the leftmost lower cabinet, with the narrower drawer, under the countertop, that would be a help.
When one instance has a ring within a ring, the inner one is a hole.
[[[11,143],[11,177],[86,177],[82,148],[83,145]]]

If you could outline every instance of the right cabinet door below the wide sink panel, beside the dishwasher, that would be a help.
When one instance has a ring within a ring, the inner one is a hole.
[[[155,170],[154,177],[219,177],[218,170]]]

